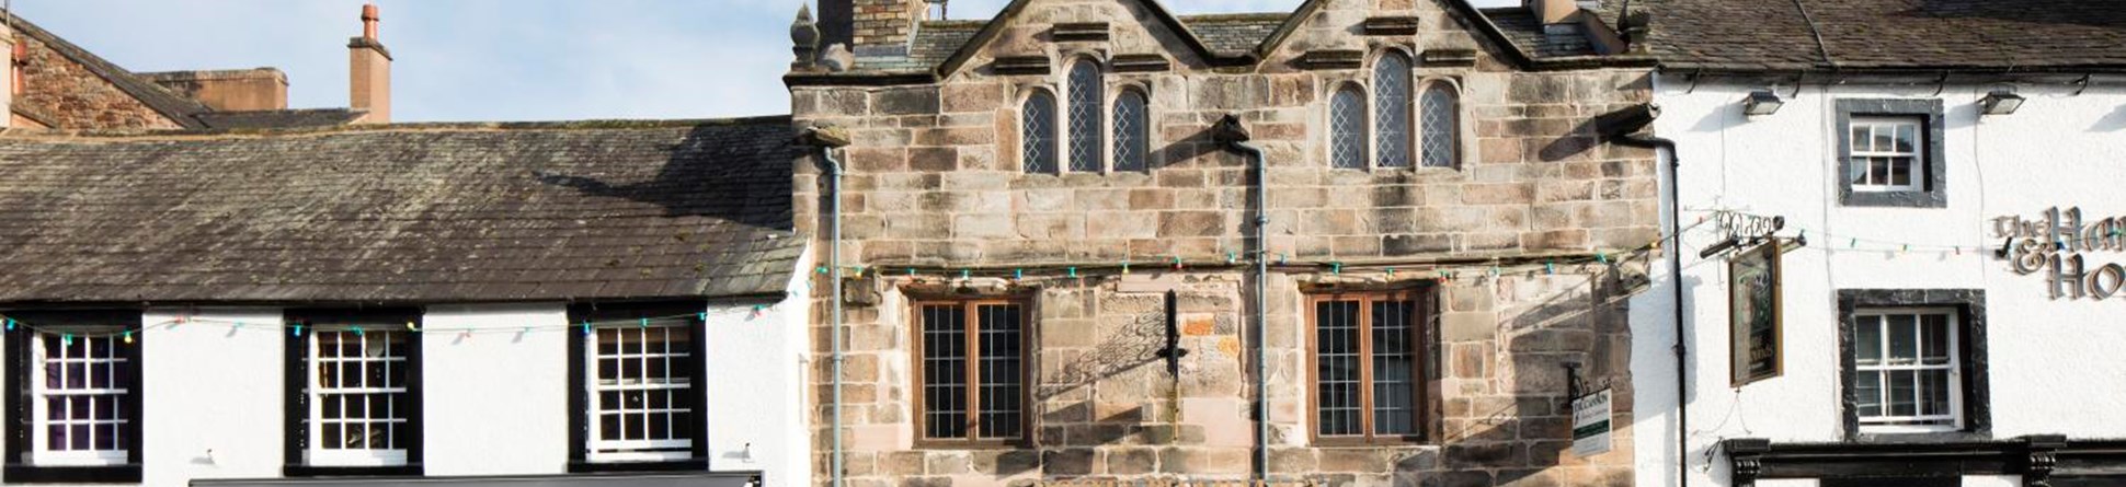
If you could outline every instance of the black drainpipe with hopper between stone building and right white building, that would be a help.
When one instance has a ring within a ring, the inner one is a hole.
[[[1609,142],[1614,142],[1614,145],[1656,149],[1654,157],[1660,157],[1658,149],[1669,149],[1669,172],[1667,172],[1667,181],[1663,181],[1663,185],[1669,189],[1669,236],[1663,238],[1663,240],[1665,240],[1667,253],[1669,253],[1667,255],[1669,257],[1669,289],[1675,293],[1675,296],[1671,296],[1671,302],[1675,302],[1675,347],[1673,347],[1673,351],[1675,351],[1675,459],[1677,459],[1675,461],[1675,483],[1680,487],[1690,487],[1690,434],[1688,434],[1690,432],[1690,402],[1684,400],[1686,393],[1690,391],[1690,362],[1686,362],[1688,355],[1690,355],[1690,345],[1684,340],[1684,332],[1686,332],[1684,330],[1684,253],[1682,253],[1682,247],[1684,247],[1684,232],[1682,232],[1682,228],[1684,228],[1684,217],[1682,217],[1684,196],[1682,196],[1682,187],[1677,185],[1677,181],[1680,181],[1677,170],[1682,170],[1684,159],[1675,151],[1675,140],[1660,138],[1660,136],[1639,134],[1641,130],[1646,130],[1648,125],[1652,125],[1654,119],[1658,119],[1658,117],[1660,117],[1660,106],[1656,106],[1656,104],[1639,104],[1639,106],[1631,106],[1631,108],[1622,108],[1622,111],[1616,111],[1616,113],[1601,115],[1601,117],[1597,117],[1594,123],[1597,123],[1599,132],[1603,134],[1603,138],[1609,138]]]

